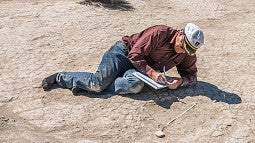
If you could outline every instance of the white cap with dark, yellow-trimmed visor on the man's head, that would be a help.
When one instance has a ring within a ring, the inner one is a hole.
[[[190,56],[195,55],[197,49],[204,44],[204,33],[195,24],[188,23],[184,28],[183,48]]]

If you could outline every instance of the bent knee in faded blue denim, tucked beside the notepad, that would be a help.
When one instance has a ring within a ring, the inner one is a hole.
[[[144,82],[135,77],[132,73],[135,69],[127,70],[122,77],[118,77],[107,90],[113,91],[115,94],[139,93],[144,87]]]

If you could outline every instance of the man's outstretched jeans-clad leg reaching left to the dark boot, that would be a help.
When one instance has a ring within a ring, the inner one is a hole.
[[[123,74],[127,69],[133,68],[127,54],[126,46],[122,42],[117,42],[104,54],[95,73],[61,72],[57,75],[56,82],[65,88],[80,88],[100,92],[111,84],[117,76]]]

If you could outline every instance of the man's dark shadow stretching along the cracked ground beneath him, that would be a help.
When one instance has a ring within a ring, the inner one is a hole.
[[[76,95],[84,95],[91,98],[103,99],[114,96],[110,93],[104,92],[100,94],[79,92]],[[227,104],[239,104],[242,102],[242,99],[237,94],[222,91],[217,86],[203,81],[198,81],[194,87],[183,87],[177,90],[153,90],[152,88],[145,86],[144,90],[139,94],[120,96],[132,98],[135,100],[153,100],[157,105],[166,109],[169,109],[174,102],[182,102],[180,99],[183,99],[187,96],[206,96],[214,102],[225,102]]]

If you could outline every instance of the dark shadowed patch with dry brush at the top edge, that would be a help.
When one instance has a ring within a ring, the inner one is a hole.
[[[80,0],[77,3],[81,5],[104,7],[111,10],[134,10],[134,7],[125,0]]]

